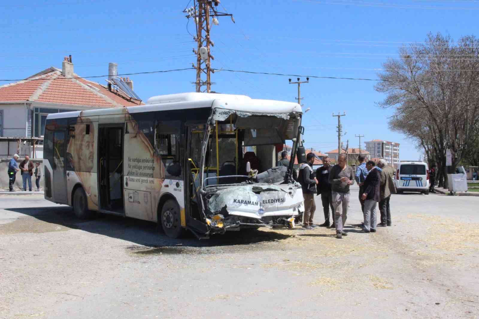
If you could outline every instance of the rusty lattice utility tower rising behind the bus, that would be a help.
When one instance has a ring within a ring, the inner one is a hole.
[[[219,0],[194,0],[194,7],[183,10],[187,13],[186,18],[194,19],[196,24],[196,35],[193,40],[197,43],[197,48],[193,49],[196,54],[196,81],[192,82],[196,85],[196,92],[211,92],[211,73],[215,71],[211,68],[211,60],[215,57],[211,55],[211,46],[215,46],[210,39],[210,30],[212,25],[218,25],[218,18],[222,16],[229,16],[233,23],[233,15],[227,12],[218,12],[217,6]],[[210,21],[211,19],[211,21]]]

